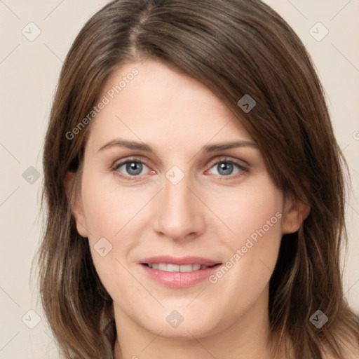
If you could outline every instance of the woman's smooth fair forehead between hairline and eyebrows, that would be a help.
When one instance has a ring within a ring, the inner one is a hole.
[[[89,145],[111,137],[184,149],[215,138],[252,140],[233,113],[202,83],[162,62],[146,60],[116,69],[102,86],[107,102],[92,123]]]

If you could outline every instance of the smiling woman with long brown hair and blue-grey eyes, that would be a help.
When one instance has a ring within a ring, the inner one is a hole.
[[[65,60],[43,166],[41,296],[65,355],[358,355],[339,147],[269,6],[105,6]]]

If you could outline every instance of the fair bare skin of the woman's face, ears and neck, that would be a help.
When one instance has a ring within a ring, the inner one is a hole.
[[[309,208],[273,184],[262,154],[231,111],[177,69],[154,60],[122,65],[99,98],[133,68],[139,74],[90,125],[73,206],[77,230],[83,241],[88,238],[97,273],[114,299],[115,358],[273,358],[266,341],[269,279],[280,238],[297,231]],[[120,138],[154,151],[101,149]],[[237,141],[251,145],[202,151]],[[137,177],[126,165],[116,168],[133,157],[144,163]],[[219,165],[228,161],[245,170],[233,165],[223,175]],[[184,174],[178,184],[165,177],[174,165]],[[138,264],[154,255],[225,263],[276,213],[278,221],[215,284],[203,280],[172,289],[148,278]],[[94,249],[100,238],[112,245],[104,257]],[[166,321],[174,310],[184,318],[176,328]]]

